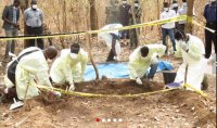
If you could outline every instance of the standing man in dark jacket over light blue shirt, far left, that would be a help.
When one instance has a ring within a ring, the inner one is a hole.
[[[7,5],[3,10],[2,20],[4,21],[2,28],[5,30],[7,37],[18,36],[20,20],[20,0],[14,0],[13,4]],[[8,40],[4,54],[4,61],[9,57],[9,52],[14,53],[16,40]]]

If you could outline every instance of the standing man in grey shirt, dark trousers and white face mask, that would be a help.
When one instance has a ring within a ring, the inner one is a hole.
[[[42,23],[43,23],[43,12],[37,8],[37,1],[31,1],[31,8],[24,11],[24,22],[27,25],[28,35],[40,36],[43,34]],[[43,49],[42,38],[37,39],[38,48]],[[28,47],[35,47],[35,39],[29,39]]]

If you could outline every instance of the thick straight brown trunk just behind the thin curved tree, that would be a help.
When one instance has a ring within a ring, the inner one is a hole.
[[[98,14],[95,10],[95,0],[89,0],[90,3],[90,27],[91,30],[98,29]],[[93,34],[93,37],[98,37],[98,34]]]

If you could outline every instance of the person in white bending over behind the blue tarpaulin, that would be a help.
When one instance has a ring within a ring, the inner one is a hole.
[[[122,24],[110,24],[110,25],[104,26],[101,30],[122,28],[122,27],[123,27]],[[120,44],[119,44],[118,39],[119,39],[119,37],[122,37],[122,30],[99,33],[99,37],[101,37],[105,41],[105,43],[110,50],[110,55],[107,56],[106,62],[110,62],[110,61],[119,62],[118,54],[120,54],[122,50],[120,50]]]

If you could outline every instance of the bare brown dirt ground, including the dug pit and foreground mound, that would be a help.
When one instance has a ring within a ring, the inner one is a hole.
[[[104,63],[108,54],[105,43],[94,42],[91,47],[94,61]],[[81,43],[81,48],[87,51],[85,42]],[[127,62],[133,50],[128,47],[123,49],[120,60]],[[182,62],[173,55],[163,56],[161,60],[174,65],[171,72],[177,72]],[[4,68],[5,64],[1,67],[2,73]],[[56,99],[42,90],[39,97],[28,100],[31,106],[29,112],[23,112],[23,107],[9,111],[12,101],[1,103],[0,127],[16,125],[20,128],[215,128],[216,74],[207,77],[209,88],[204,92],[208,98],[192,91],[174,90],[141,98],[86,98],[63,94],[61,99]],[[78,92],[120,95],[165,88],[162,73],[155,75],[153,82],[144,82],[143,86],[138,86],[128,78],[85,81],[75,86],[75,91]],[[101,120],[97,121],[97,118]],[[112,121],[107,121],[108,118]],[[114,118],[117,121],[113,121]],[[119,118],[123,120],[119,121]],[[106,121],[103,123],[102,119]]]

